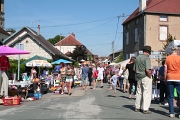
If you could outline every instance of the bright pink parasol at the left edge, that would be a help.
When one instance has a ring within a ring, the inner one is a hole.
[[[0,46],[0,55],[16,55],[16,54],[30,54],[30,52],[12,48],[9,46]]]

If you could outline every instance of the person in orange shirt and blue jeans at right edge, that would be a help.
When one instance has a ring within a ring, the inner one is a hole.
[[[164,80],[167,84],[167,99],[169,103],[170,117],[174,117],[174,88],[178,93],[178,102],[180,102],[180,48],[173,46],[172,54],[166,57],[164,67]],[[180,105],[178,109],[178,117],[180,118]]]

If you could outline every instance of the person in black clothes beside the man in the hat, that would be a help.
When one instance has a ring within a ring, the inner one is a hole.
[[[132,95],[131,94],[134,94],[134,98],[136,97],[136,86],[137,86],[137,82],[135,80],[135,70],[134,70],[134,62],[135,62],[136,58],[134,56],[131,57],[130,61],[128,64],[126,64],[126,68],[123,70],[123,73],[128,69],[129,71],[129,76],[128,76],[128,80],[129,80],[129,84],[130,84],[130,87],[129,87],[129,98],[131,99],[132,98]],[[134,93],[132,93],[132,88],[133,86],[135,86],[135,91]]]

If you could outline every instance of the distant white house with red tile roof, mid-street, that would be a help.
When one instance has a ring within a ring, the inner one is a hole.
[[[84,46],[75,38],[75,34],[72,33],[55,44],[55,47],[66,55],[70,55],[76,46]],[[87,49],[87,59],[93,60],[93,54]]]

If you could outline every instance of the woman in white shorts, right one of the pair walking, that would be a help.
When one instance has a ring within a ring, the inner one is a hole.
[[[73,76],[74,76],[74,70],[71,69],[71,65],[67,65],[66,69],[66,85],[67,85],[67,90],[68,90],[68,95],[71,95],[71,86],[72,86],[72,81],[73,81]]]

